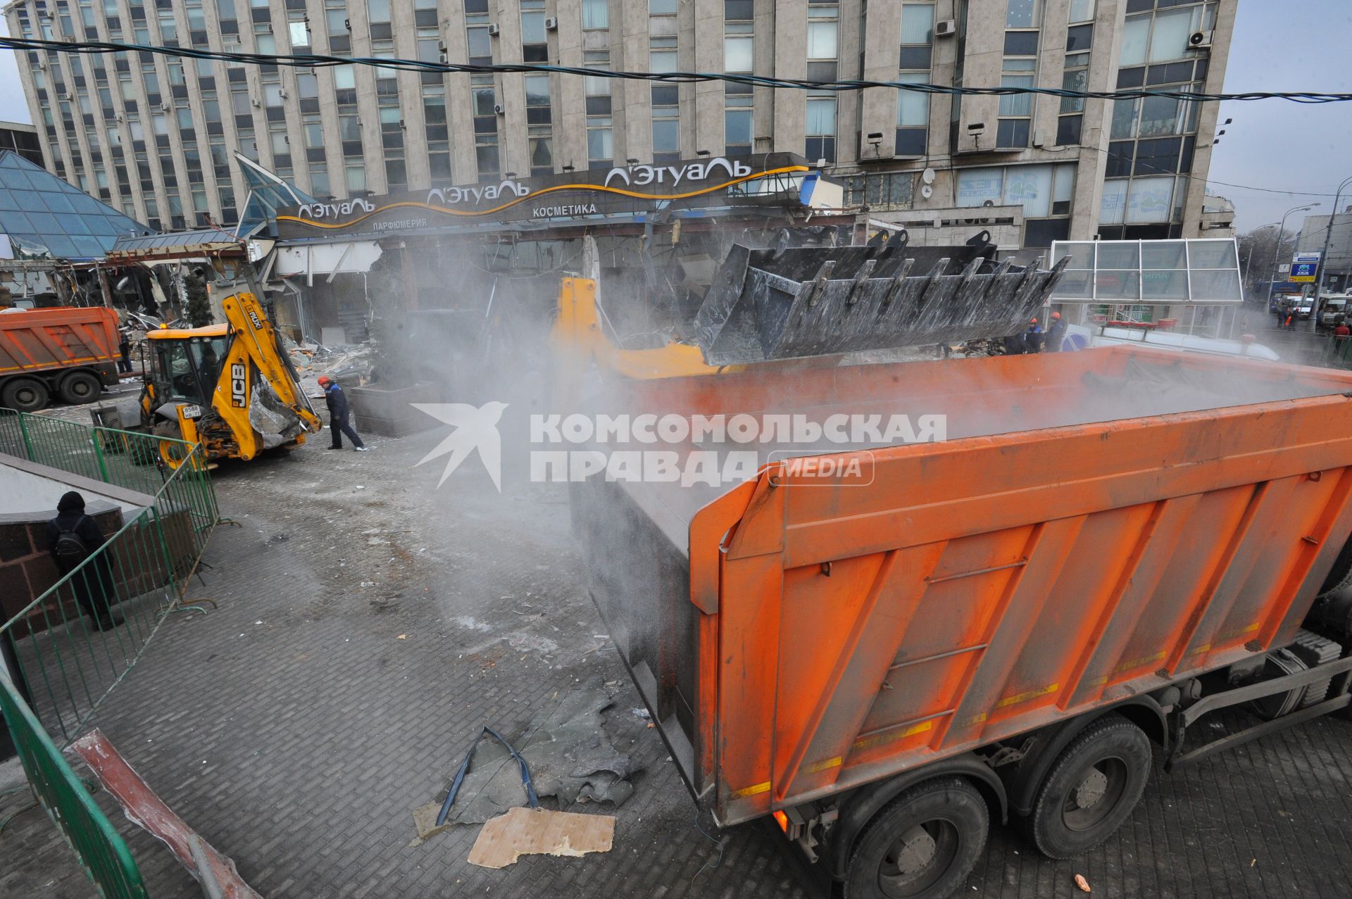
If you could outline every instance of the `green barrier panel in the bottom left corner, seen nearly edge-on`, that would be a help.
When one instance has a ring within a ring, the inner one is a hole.
[[[0,714],[9,726],[9,735],[19,750],[19,760],[32,791],[104,899],[146,899],[141,869],[127,844],[95,804],[93,796],[66,764],[61,750],[42,730],[41,722],[15,691],[3,666]]]

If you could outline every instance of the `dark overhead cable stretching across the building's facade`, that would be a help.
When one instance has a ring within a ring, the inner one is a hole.
[[[341,65],[361,65],[379,69],[395,69],[399,72],[466,72],[469,74],[502,74],[502,73],[534,73],[549,72],[560,74],[575,74],[591,78],[626,78],[631,81],[652,81],[656,84],[692,84],[699,81],[726,81],[730,84],[745,84],[752,87],[795,89],[795,91],[864,91],[867,88],[894,88],[896,91],[911,91],[915,93],[949,95],[949,96],[1009,96],[1037,93],[1053,97],[1076,97],[1092,100],[1133,100],[1138,97],[1168,97],[1187,103],[1220,103],[1222,100],[1290,100],[1293,103],[1345,103],[1352,100],[1352,93],[1326,93],[1318,91],[1252,91],[1248,93],[1198,93],[1184,89],[1148,89],[1137,88],[1128,91],[1069,91],[1065,88],[975,88],[952,87],[942,84],[910,84],[904,81],[873,81],[868,78],[846,78],[838,81],[813,81],[807,78],[769,78],[754,74],[737,74],[727,72],[615,72],[611,69],[584,69],[576,66],[537,65],[498,62],[489,65],[472,65],[461,62],[425,62],[422,59],[399,59],[380,57],[331,57],[318,53],[304,54],[266,54],[266,53],[227,53],[224,50],[203,50],[197,47],[165,47],[146,43],[119,43],[115,41],[42,41],[37,38],[0,38],[0,47],[11,50],[46,50],[51,53],[68,53],[80,55],[99,55],[107,53],[153,53],[162,57],[189,58],[189,59],[219,59],[222,62],[239,62],[245,65],[281,65],[289,68],[330,68]]]

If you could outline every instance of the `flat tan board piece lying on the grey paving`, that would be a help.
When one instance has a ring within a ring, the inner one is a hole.
[[[615,835],[611,815],[512,808],[484,825],[469,850],[469,864],[506,868],[522,856],[585,856],[610,852]]]

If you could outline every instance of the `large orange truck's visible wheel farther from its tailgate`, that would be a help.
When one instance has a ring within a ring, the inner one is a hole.
[[[1151,776],[1151,738],[1117,712],[1079,733],[1037,788],[1028,835],[1049,858],[1071,858],[1111,837]]]

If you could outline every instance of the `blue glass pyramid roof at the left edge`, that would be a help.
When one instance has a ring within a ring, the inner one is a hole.
[[[154,234],[11,150],[0,151],[0,231],[15,258],[58,260],[103,258],[122,235]]]

